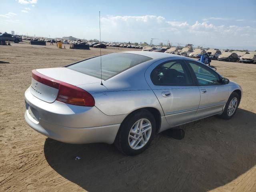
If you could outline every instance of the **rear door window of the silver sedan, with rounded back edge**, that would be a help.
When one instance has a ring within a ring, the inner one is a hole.
[[[168,61],[158,65],[150,74],[154,85],[189,86],[192,80],[182,60]]]

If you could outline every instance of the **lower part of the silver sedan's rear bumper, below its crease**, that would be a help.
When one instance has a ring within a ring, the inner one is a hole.
[[[112,144],[116,138],[120,124],[90,127],[90,128],[70,128],[47,121],[40,120],[36,122],[28,113],[25,112],[27,124],[37,132],[65,143],[85,144],[85,143],[108,143]]]

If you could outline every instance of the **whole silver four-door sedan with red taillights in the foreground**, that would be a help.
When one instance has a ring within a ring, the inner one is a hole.
[[[143,152],[156,133],[212,115],[231,118],[242,88],[210,67],[159,52],[119,52],[32,71],[25,120],[66,143]]]

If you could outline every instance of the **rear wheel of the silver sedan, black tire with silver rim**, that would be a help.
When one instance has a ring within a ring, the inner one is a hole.
[[[140,110],[122,122],[114,144],[124,154],[138,155],[148,148],[156,130],[156,120],[148,110]]]

